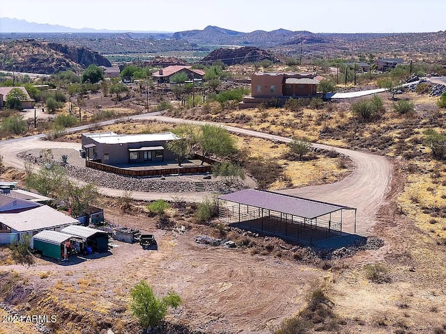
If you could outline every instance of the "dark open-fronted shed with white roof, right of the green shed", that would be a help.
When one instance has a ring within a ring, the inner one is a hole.
[[[61,232],[70,234],[77,239],[72,240],[71,246],[78,253],[84,253],[84,250],[87,250],[87,253],[105,253],[109,249],[109,234],[105,231],[81,225],[71,225],[63,228]]]

